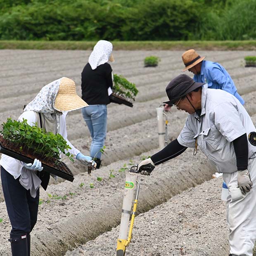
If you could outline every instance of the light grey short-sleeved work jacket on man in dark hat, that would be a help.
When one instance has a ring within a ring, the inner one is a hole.
[[[178,142],[185,147],[199,146],[207,158],[221,173],[237,171],[235,150],[232,141],[255,132],[254,123],[236,97],[219,89],[202,88],[201,115],[187,117]],[[256,147],[248,141],[248,157]]]

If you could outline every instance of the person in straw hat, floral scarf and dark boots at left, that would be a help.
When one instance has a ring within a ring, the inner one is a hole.
[[[69,152],[86,166],[96,167],[90,156],[83,155],[67,139],[66,114],[87,107],[88,104],[76,94],[73,80],[62,77],[45,85],[38,95],[25,107],[19,121],[59,133],[71,149]],[[7,212],[12,225],[10,232],[12,256],[30,255],[30,232],[37,221],[39,186],[46,190],[50,175],[43,171],[40,160],[26,164],[2,154],[0,160],[2,189]],[[38,175],[37,175],[38,174]],[[57,178],[57,177],[55,177]]]

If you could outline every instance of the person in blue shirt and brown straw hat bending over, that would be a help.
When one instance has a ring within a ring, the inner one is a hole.
[[[187,50],[182,55],[183,63],[186,66],[182,72],[188,70],[194,73],[194,81],[207,83],[208,88],[221,89],[229,92],[244,105],[244,100],[237,92],[235,83],[229,73],[217,62],[204,60],[205,57],[199,56],[193,49]]]

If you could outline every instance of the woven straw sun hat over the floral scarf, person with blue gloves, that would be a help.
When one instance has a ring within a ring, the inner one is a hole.
[[[59,84],[54,108],[62,112],[81,109],[87,106],[88,104],[77,95],[75,82],[67,77],[63,77]]]

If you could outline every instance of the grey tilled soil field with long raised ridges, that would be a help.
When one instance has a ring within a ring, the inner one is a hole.
[[[113,52],[114,73],[137,85],[136,102],[133,108],[108,105],[102,168],[89,176],[79,163],[67,163],[76,175],[73,183],[59,179],[51,181],[47,192],[40,190],[38,223],[31,234],[32,256],[115,255],[125,171],[158,150],[156,107],[167,99],[167,83],[183,69],[182,53]],[[81,95],[81,71],[89,54],[89,51],[1,50],[0,122],[9,116],[16,119],[23,105],[33,100],[43,85],[62,76],[73,79]],[[143,67],[143,60],[149,55],[161,58],[158,67]],[[256,123],[256,72],[254,68],[245,68],[243,62],[244,56],[255,52],[202,51],[200,55],[228,70]],[[178,136],[187,116],[174,108],[171,111],[169,140]],[[83,154],[88,154],[91,139],[81,111],[69,113],[66,121],[69,140]],[[221,179],[207,181],[214,172],[214,166],[205,156],[200,152],[193,156],[192,149],[187,149],[176,159],[157,166],[152,176],[139,176],[141,214],[135,218],[133,243],[126,255],[228,255],[225,204],[220,201]],[[3,220],[0,255],[9,256],[10,224],[2,192],[0,201]],[[72,251],[76,244],[85,245]]]

